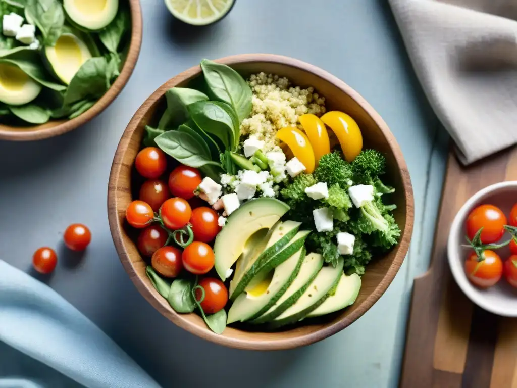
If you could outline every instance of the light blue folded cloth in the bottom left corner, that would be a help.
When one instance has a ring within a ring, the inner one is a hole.
[[[0,341],[88,388],[160,388],[62,296],[2,260]]]

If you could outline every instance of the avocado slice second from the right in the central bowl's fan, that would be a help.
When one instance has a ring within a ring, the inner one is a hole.
[[[330,296],[329,291],[338,285],[342,273],[342,258],[338,260],[336,267],[323,267],[300,299],[269,323],[271,329],[296,323],[318,308]]]

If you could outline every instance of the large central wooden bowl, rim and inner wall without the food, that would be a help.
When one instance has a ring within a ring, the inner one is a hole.
[[[216,344],[250,350],[291,349],[320,341],[343,330],[361,317],[386,291],[406,256],[413,231],[413,188],[400,147],[381,116],[354,89],[331,74],[297,59],[272,54],[242,54],[218,61],[229,65],[244,76],[264,71],[290,79],[300,87],[313,86],[326,99],[328,110],[340,110],[355,118],[361,128],[364,146],[375,148],[386,156],[386,182],[396,188],[394,211],[402,235],[400,243],[383,257],[374,258],[362,276],[362,287],[356,302],[345,310],[319,321],[303,322],[280,332],[250,332],[228,326],[223,334],[211,332],[196,314],[178,314],[158,294],[146,276],[147,263],[128,235],[125,222],[126,207],[135,199],[131,188],[133,162],[141,148],[147,124],[156,124],[156,112],[164,107],[164,94],[173,86],[186,86],[199,76],[200,66],[194,66],[165,82],[136,111],[118,144],[108,187],[108,216],[113,241],[126,272],[136,288],[162,315],[192,334]]]

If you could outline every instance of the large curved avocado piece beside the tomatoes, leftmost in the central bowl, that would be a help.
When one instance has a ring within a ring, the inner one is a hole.
[[[248,239],[261,229],[270,229],[289,210],[289,206],[274,198],[252,199],[240,206],[226,219],[226,226],[214,244],[215,268],[221,280],[244,252]]]

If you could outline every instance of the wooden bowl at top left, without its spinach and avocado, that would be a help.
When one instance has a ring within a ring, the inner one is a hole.
[[[124,86],[129,81],[129,77],[133,72],[136,60],[140,54],[140,46],[142,44],[142,10],[140,8],[140,0],[127,0],[131,12],[131,41],[129,43],[129,50],[124,62],[120,75],[117,77],[113,85],[108,91],[95,103],[95,105],[88,109],[83,114],[72,119],[62,118],[59,120],[51,120],[48,123],[40,125],[27,125],[14,127],[0,124],[0,140],[11,141],[29,141],[42,140],[58,135],[63,135],[72,129],[75,129],[95,116],[100,114],[104,109],[113,102],[119,95]]]

